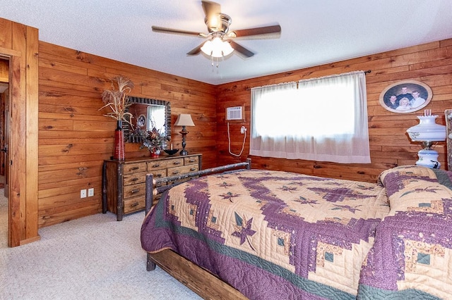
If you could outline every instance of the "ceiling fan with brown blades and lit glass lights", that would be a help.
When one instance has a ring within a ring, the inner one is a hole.
[[[192,49],[187,53],[189,56],[198,55],[201,51],[208,56],[222,57],[237,51],[242,56],[249,58],[254,56],[254,53],[246,49],[244,46],[237,44],[232,39],[234,38],[247,38],[256,36],[280,34],[280,25],[271,25],[265,27],[256,27],[242,30],[229,31],[229,26],[232,23],[232,18],[225,13],[221,13],[221,6],[213,1],[201,1],[206,18],[204,23],[207,25],[208,33],[191,32],[186,30],[175,30],[171,28],[153,26],[153,31],[162,33],[173,33],[177,35],[194,35],[196,37],[206,38],[207,41],[203,42],[195,49]],[[259,38],[259,37],[258,37]]]

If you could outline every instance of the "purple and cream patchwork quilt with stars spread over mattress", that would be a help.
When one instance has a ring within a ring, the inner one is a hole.
[[[367,258],[391,214],[387,188],[264,170],[200,177],[162,196],[143,222],[141,243],[150,253],[176,251],[250,299],[356,299],[364,263],[366,298],[393,288],[374,284],[384,269],[369,270],[387,255]]]

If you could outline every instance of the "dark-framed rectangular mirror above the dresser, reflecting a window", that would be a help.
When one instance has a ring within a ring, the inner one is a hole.
[[[129,96],[133,103],[129,113],[133,115],[131,123],[123,123],[124,140],[129,143],[141,143],[138,130],[149,131],[155,127],[160,133],[171,137],[171,106],[169,101]]]

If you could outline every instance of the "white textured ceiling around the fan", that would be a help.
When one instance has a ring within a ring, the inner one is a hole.
[[[0,18],[38,28],[40,40],[213,85],[306,68],[452,37],[451,0],[228,0],[230,30],[275,25],[278,39],[235,41],[253,51],[218,68],[186,53],[207,32],[195,0],[0,0]],[[216,64],[216,63],[215,63]]]

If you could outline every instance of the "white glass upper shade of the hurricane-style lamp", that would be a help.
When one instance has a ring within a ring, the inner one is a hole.
[[[446,140],[446,126],[435,123],[438,115],[418,115],[417,118],[420,123],[407,130],[413,142],[439,142]]]

